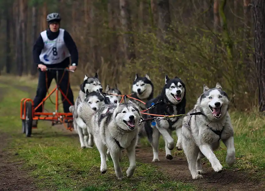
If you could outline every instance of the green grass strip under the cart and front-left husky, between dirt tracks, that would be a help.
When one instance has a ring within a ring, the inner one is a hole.
[[[24,83],[9,78],[0,78],[0,88],[5,92],[0,103],[0,130],[12,135],[9,152],[14,160],[23,159],[24,168],[36,178],[40,189],[47,190],[195,190],[189,184],[169,179],[150,164],[137,162],[137,168],[130,179],[116,180],[113,162],[108,161],[106,174],[100,174],[100,156],[94,149],[80,149],[79,138],[75,133],[62,131],[50,123],[40,121],[38,129],[26,138],[22,134],[19,118],[19,105],[23,97],[32,92],[23,91],[19,85],[34,87],[36,81]],[[53,84],[54,86],[54,84]],[[51,87],[52,88],[52,87]],[[32,89],[33,94],[36,87]],[[75,93],[76,95],[76,93]],[[54,105],[47,102],[45,108],[51,110]],[[128,157],[123,156],[121,167],[123,174],[129,166]]]

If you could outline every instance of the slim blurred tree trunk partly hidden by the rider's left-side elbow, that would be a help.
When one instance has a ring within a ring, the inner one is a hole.
[[[37,20],[38,20],[38,12],[36,3],[32,7],[32,46],[37,40]],[[32,57],[32,56],[31,56]],[[31,75],[35,76],[37,74],[36,63],[34,63],[33,58],[31,58]]]

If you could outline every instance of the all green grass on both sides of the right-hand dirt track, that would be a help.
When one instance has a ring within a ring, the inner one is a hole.
[[[170,179],[158,167],[139,161],[130,179],[122,181],[116,179],[111,159],[107,162],[107,173],[100,174],[100,155],[97,149],[80,149],[78,135],[51,126],[49,122],[40,121],[38,129],[33,129],[32,137],[26,138],[25,134],[22,134],[19,118],[20,100],[29,97],[32,92],[34,95],[36,81],[27,81],[23,78],[10,81],[11,79],[0,77],[0,90],[4,90],[0,102],[0,131],[12,135],[8,152],[13,155],[14,161],[21,159],[25,161],[23,168],[35,178],[35,183],[41,190],[196,190],[195,185]],[[14,86],[1,83],[2,81]],[[31,92],[17,87],[21,84],[25,86],[25,83],[26,86],[32,87]],[[48,101],[45,108],[51,110],[54,105]],[[256,173],[259,179],[261,177],[264,179],[265,118],[257,116],[255,112],[250,114],[231,112],[230,115],[235,132],[237,160],[233,167],[225,164],[224,144],[221,144],[221,148],[215,152],[217,158],[224,168],[244,169]],[[174,139],[176,140],[175,133]],[[141,140],[141,144],[150,147],[146,139]],[[164,148],[162,139],[159,146],[161,149]],[[152,151],[151,148],[150,150]],[[14,155],[15,153],[17,155]],[[183,152],[178,151],[178,154]],[[204,161],[210,165],[206,159]],[[121,167],[124,175],[128,166],[128,157],[123,155]]]

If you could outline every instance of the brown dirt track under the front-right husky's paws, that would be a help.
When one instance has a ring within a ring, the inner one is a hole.
[[[264,190],[264,182],[259,182],[251,178],[241,170],[223,170],[221,173],[215,173],[212,168],[202,164],[204,170],[203,179],[192,180],[188,163],[185,156],[175,156],[172,160],[165,158],[165,152],[159,152],[160,162],[152,163],[153,153],[152,147],[139,148],[136,153],[137,160],[157,165],[166,174],[169,174],[172,179],[180,180],[185,183],[191,183],[198,186],[200,189],[211,190],[227,190],[227,191],[246,191],[246,190]]]

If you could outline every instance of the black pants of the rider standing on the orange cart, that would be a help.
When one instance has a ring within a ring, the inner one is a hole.
[[[46,82],[46,72],[47,72],[47,82]],[[36,92],[36,96],[33,100],[34,108],[36,108],[36,106],[38,106],[41,103],[41,101],[45,98],[46,93],[47,93],[47,88],[49,89],[49,87],[51,86],[51,81],[53,78],[56,80],[56,71],[55,70],[39,71],[39,82],[38,82],[37,92]],[[71,90],[70,84],[68,87],[68,92],[66,92],[67,86],[68,86],[68,79],[69,79],[69,72],[68,71],[63,71],[63,70],[58,71],[58,82],[57,83],[59,83],[61,81],[61,83],[59,84],[60,89],[67,96],[67,98],[70,100],[70,102],[72,104],[74,104],[74,95],[73,95],[73,92]],[[51,92],[51,90],[49,90],[49,92]],[[55,92],[53,94],[55,94]],[[70,112],[69,111],[70,104],[68,103],[68,101],[65,99],[65,97],[63,95],[61,95],[61,97],[62,97],[62,101],[64,100],[64,102],[63,102],[64,112],[69,113]],[[55,101],[53,101],[53,102],[55,103]],[[42,112],[42,105],[40,105],[40,107],[38,107],[35,112]]]

